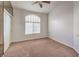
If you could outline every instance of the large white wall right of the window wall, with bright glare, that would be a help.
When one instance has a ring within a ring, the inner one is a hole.
[[[54,2],[48,15],[49,37],[73,47],[73,3]]]

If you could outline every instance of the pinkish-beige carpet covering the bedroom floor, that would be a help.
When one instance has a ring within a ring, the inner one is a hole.
[[[78,54],[65,45],[49,38],[12,44],[5,57],[75,57]]]

